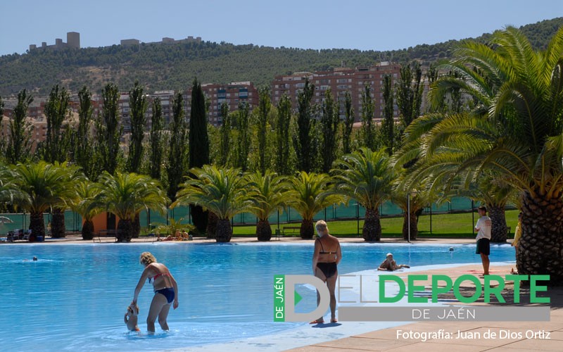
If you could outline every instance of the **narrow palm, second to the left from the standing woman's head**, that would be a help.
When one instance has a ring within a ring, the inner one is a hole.
[[[270,241],[272,227],[268,218],[289,200],[289,183],[285,177],[266,170],[263,175],[259,171],[248,175],[248,185],[253,192],[251,211],[258,218],[256,237],[258,241]]]

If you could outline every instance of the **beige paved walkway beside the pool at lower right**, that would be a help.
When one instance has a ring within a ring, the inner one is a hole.
[[[463,274],[476,275],[480,265],[465,265],[458,268],[427,270],[417,274],[446,274],[453,279]],[[491,267],[491,274],[504,277],[510,266]],[[511,287],[506,288],[510,291]],[[358,334],[344,339],[325,341],[311,346],[293,348],[292,352],[343,352],[343,351],[563,351],[563,288],[549,289],[551,310],[549,322],[415,322],[412,324]],[[504,295],[503,295],[504,296]],[[507,294],[507,296],[511,296]],[[528,297],[522,302],[529,302]],[[507,303],[511,304],[507,299]],[[476,305],[486,303],[476,302]],[[490,303],[492,305],[498,303]],[[512,303],[514,304],[514,303]],[[342,324],[346,324],[343,322]],[[410,332],[453,333],[460,339],[415,339],[405,335]],[[399,334],[398,334],[399,332]],[[494,332],[496,338],[486,338]],[[526,338],[527,336],[527,338]],[[501,338],[502,337],[502,338]]]

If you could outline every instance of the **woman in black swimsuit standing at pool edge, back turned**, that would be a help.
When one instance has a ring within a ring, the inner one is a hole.
[[[330,321],[336,322],[336,296],[334,290],[336,288],[336,278],[339,276],[336,265],[342,259],[342,252],[340,250],[340,242],[334,236],[329,234],[327,222],[322,220],[317,221],[315,224],[317,234],[319,237],[315,240],[315,252],[312,255],[312,272],[313,275],[322,279],[327,284],[330,292]],[[320,294],[317,291],[317,306],[320,303]],[[324,322],[321,317],[313,320],[311,324]]]

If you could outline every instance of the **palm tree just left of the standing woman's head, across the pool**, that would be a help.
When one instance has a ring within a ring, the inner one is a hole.
[[[312,218],[324,208],[343,202],[341,194],[334,191],[334,180],[327,174],[299,172],[290,180],[288,205],[297,210],[303,220],[299,233],[302,239],[312,239],[315,229]]]

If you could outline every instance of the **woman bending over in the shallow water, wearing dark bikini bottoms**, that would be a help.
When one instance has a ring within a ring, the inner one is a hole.
[[[167,331],[168,323],[166,318],[170,311],[170,306],[174,309],[178,308],[178,285],[176,280],[170,274],[166,265],[156,263],[156,258],[150,252],[141,253],[139,262],[145,266],[137,287],[135,287],[135,294],[133,296],[134,305],[137,305],[137,298],[145,284],[146,279],[148,282],[153,282],[154,296],[151,302],[151,308],[148,310],[148,317],[146,318],[146,329],[148,332],[154,333],[154,322],[158,318],[160,327]],[[172,301],[174,303],[172,303]]]

